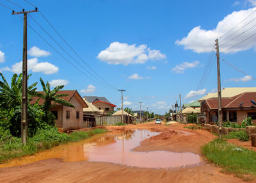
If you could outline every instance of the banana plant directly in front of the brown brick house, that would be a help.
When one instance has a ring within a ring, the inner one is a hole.
[[[67,102],[66,100],[60,99],[60,97],[67,97],[67,94],[60,94],[60,95],[56,95],[57,92],[59,90],[61,90],[64,85],[60,85],[60,86],[56,86],[52,91],[50,89],[50,84],[47,81],[46,85],[43,81],[43,79],[40,77],[40,83],[42,84],[42,88],[44,93],[38,93],[37,96],[40,97],[41,99],[44,99],[44,104],[42,106],[42,109],[44,111],[44,116],[43,116],[43,120],[47,123],[49,123],[49,125],[54,125],[54,116],[52,115],[50,109],[52,107],[52,102],[61,104],[63,106],[67,106],[67,107],[73,107],[74,106],[72,104],[70,104],[69,102]]]

